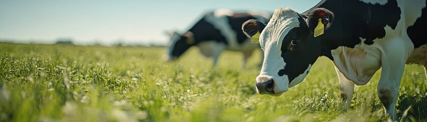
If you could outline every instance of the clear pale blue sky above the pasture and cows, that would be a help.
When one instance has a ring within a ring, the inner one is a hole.
[[[183,33],[204,13],[215,9],[273,12],[288,7],[301,13],[319,1],[0,0],[0,40],[54,43],[57,39],[72,39],[82,45],[166,45],[166,32]]]

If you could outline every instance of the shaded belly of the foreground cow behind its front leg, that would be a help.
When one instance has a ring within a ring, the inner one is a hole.
[[[415,48],[411,52],[406,63],[424,63],[427,62],[427,45],[422,45],[418,48]]]

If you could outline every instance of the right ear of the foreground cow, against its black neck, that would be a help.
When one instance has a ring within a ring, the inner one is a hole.
[[[323,26],[319,25],[319,27],[322,27],[325,31],[327,31],[328,28],[332,25],[333,19],[334,14],[328,9],[316,8],[312,10],[310,14],[308,14],[306,23],[308,25],[308,28],[310,29],[310,32],[314,33],[315,28],[317,28],[318,24],[320,24],[319,20],[321,20],[321,23],[323,24]]]

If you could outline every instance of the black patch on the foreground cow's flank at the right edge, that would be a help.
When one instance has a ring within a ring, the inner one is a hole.
[[[425,2],[425,4],[427,5],[427,1]],[[409,26],[408,29],[406,30],[406,33],[408,33],[409,38],[414,44],[414,48],[427,44],[427,34],[425,34],[425,32],[427,31],[426,28],[427,28],[427,7],[424,7],[422,9],[421,17],[415,21],[414,25]]]

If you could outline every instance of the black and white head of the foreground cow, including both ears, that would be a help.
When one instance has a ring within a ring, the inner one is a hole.
[[[280,8],[274,11],[267,25],[258,20],[243,23],[247,36],[261,33],[264,62],[255,82],[259,94],[279,96],[305,78],[320,56],[322,36],[314,37],[320,18],[327,31],[334,15],[324,8],[314,9],[308,16]]]

